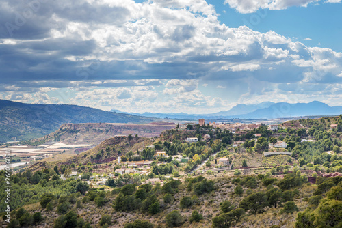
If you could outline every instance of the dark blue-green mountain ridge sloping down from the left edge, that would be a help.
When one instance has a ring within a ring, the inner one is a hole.
[[[0,142],[42,137],[65,123],[147,123],[155,120],[77,105],[23,104],[0,100]]]

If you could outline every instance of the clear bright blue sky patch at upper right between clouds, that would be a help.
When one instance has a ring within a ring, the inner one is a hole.
[[[265,33],[269,30],[298,40],[307,46],[321,46],[342,51],[342,4],[311,3],[307,7],[290,7],[286,10],[261,9],[241,14],[222,0],[207,1],[215,5],[218,19],[230,27],[247,25]],[[310,38],[311,40],[305,40]]]

